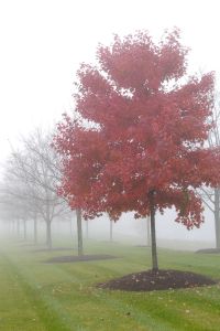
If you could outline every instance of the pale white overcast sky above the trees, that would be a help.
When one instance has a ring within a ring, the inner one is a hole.
[[[182,29],[190,68],[220,76],[219,8],[215,0],[0,0],[0,160],[19,134],[46,127],[73,107],[80,62],[94,62],[113,33]]]

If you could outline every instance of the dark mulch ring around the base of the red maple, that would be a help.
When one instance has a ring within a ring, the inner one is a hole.
[[[98,288],[125,291],[153,291],[217,284],[202,275],[178,270],[147,270],[98,284]]]

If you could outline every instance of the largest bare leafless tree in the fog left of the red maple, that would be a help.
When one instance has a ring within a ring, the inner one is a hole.
[[[51,135],[35,130],[29,138],[22,138],[22,150],[13,150],[10,160],[10,175],[22,183],[22,189],[11,195],[20,196],[33,213],[35,239],[36,216],[46,223],[46,244],[52,248],[51,225],[55,217],[70,213],[63,197],[57,195],[57,184],[61,178],[59,160],[51,147]]]

